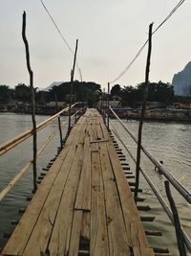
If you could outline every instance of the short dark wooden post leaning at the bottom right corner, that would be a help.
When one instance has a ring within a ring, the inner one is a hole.
[[[170,207],[173,213],[173,218],[174,218],[174,225],[175,225],[175,230],[176,230],[176,236],[177,236],[177,244],[179,247],[180,251],[180,256],[186,256],[186,251],[185,251],[185,246],[184,246],[184,239],[181,231],[181,226],[180,226],[180,218],[179,214],[177,211],[177,207],[175,204],[175,201],[172,197],[171,191],[170,191],[170,186],[169,186],[169,181],[164,181],[165,185],[165,190],[166,190],[166,195],[170,203]]]

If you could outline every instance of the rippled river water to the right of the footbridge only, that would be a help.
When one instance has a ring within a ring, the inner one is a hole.
[[[137,136],[138,122],[124,122]],[[117,132],[120,134],[122,140],[136,156],[137,146],[134,141],[128,136],[124,128],[121,128],[116,120],[113,120],[112,123],[115,128],[117,128]],[[181,184],[185,186],[188,191],[191,191],[191,126],[189,124],[145,122],[143,125],[142,145],[144,145],[155,158],[162,160],[163,165],[180,180]],[[123,149],[122,146],[121,148]],[[125,152],[125,150],[123,151]],[[131,170],[135,171],[134,162],[131,160],[128,153],[125,154],[130,162]],[[155,167],[143,153],[141,154],[141,167],[150,176],[151,180],[158,188],[159,193],[167,201],[164,191],[165,177],[155,171]],[[179,255],[176,246],[175,230],[171,222],[167,215],[163,213],[158,199],[153,195],[143,177],[141,177],[140,184],[143,193],[139,195],[139,197],[146,198],[146,200],[139,204],[149,205],[152,208],[149,213],[140,212],[140,214],[156,216],[154,222],[144,223],[145,229],[162,231],[162,237],[148,237],[149,243],[153,246],[168,247],[173,255]],[[180,198],[180,195],[172,186],[171,191],[180,213],[182,226],[191,237],[191,205]]]

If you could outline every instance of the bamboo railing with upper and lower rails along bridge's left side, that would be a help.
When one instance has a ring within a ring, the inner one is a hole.
[[[74,105],[72,105],[72,108],[76,107],[78,105],[78,103],[75,103]],[[45,120],[44,122],[38,124],[36,126],[36,131],[38,132],[41,129],[47,128],[49,125],[53,124],[53,122],[59,118],[63,113],[68,112],[69,110],[69,106],[62,109],[61,111],[57,112],[56,114],[54,114],[52,117],[48,118],[47,120]],[[77,119],[77,115],[78,117],[80,116],[80,113],[82,113],[84,111],[84,108],[76,108],[74,114],[72,115],[72,118],[74,118],[74,122],[76,122]],[[64,122],[62,122],[61,128],[63,128],[64,126],[66,126],[68,124],[68,120],[65,120]],[[7,153],[8,151],[11,151],[13,148],[17,147],[19,144],[21,144],[22,142],[26,141],[27,139],[29,139],[30,137],[32,137],[32,132],[33,129],[27,130],[26,132],[23,132],[22,134],[20,134],[19,136],[11,139],[9,142],[3,144],[2,146],[0,146],[0,156]],[[47,140],[44,142],[43,146],[40,148],[39,151],[37,151],[36,153],[36,157],[38,157],[43,151],[45,151],[45,149],[47,148],[47,146],[50,144],[51,141],[53,141],[53,138],[55,137],[55,135],[59,132],[59,128],[55,128],[53,129],[52,133],[49,135],[49,137],[47,138]],[[26,174],[26,172],[32,167],[32,163],[33,160],[29,161],[27,164],[25,164],[25,166],[16,173],[16,175],[14,175],[14,177],[11,179],[11,181],[9,182],[9,184],[0,192],[0,201],[2,199],[4,199],[10,192],[11,189],[16,185],[16,183],[21,179],[21,177],[23,175]]]

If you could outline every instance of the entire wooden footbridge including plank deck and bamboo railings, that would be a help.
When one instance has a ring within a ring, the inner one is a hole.
[[[143,205],[137,207],[136,202],[142,200],[132,195],[135,190],[133,187],[137,188],[137,182],[132,181],[132,178],[137,177],[137,174],[133,175],[130,172],[125,156],[118,149],[117,141],[120,141],[123,149],[129,153],[135,163],[137,160],[123,143],[112,122],[109,122],[109,115],[107,122],[113,127],[115,137],[106,127],[106,110],[108,113],[111,110],[118,123],[137,143],[136,136],[111,107],[102,109],[103,116],[94,108],[88,108],[84,112],[84,107],[78,108],[76,104],[72,107],[77,108],[73,116],[69,115],[69,122],[66,119],[63,123],[60,121],[62,113],[70,109],[66,107],[36,126],[38,132],[58,119],[58,130],[57,128],[53,130],[43,147],[36,151],[35,157],[45,150],[57,131],[60,133],[61,145],[58,147],[56,157],[53,157],[47,168],[43,168],[43,173],[38,174],[38,181],[33,158],[0,192],[0,200],[3,200],[33,166],[33,188],[35,191],[37,187],[37,190],[0,254],[4,256],[172,255],[168,249],[152,248],[147,243],[146,235],[161,236],[161,232],[143,229],[141,221],[153,221],[155,217],[138,215],[138,210],[148,210],[149,207]],[[76,122],[77,116],[80,117],[78,122]],[[71,128],[72,119],[75,120],[73,128]],[[66,124],[70,126],[66,139],[63,140],[62,127]],[[33,130],[28,130],[0,146],[0,155],[11,151],[31,137]],[[190,193],[143,145],[140,148],[180,196],[190,204]],[[139,172],[159,199],[170,221],[175,224],[178,242],[179,238],[181,241],[180,252],[185,251],[184,245],[191,251],[189,236],[180,223],[177,224],[179,218],[175,216],[176,206],[171,206],[170,209],[149,175],[141,167]],[[131,181],[128,182],[130,178]],[[36,186],[37,183],[40,184]]]

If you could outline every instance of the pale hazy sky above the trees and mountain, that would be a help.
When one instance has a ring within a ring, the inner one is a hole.
[[[77,61],[83,81],[107,87],[136,56],[154,29],[179,0],[44,0],[69,45],[78,38]],[[64,44],[40,0],[0,1],[0,84],[29,84],[22,41],[22,13],[27,12],[34,86],[70,81],[73,54]],[[150,81],[171,82],[191,60],[191,1],[153,36]],[[130,70],[111,84],[136,86],[144,81],[147,47]],[[75,80],[79,80],[75,73]]]

